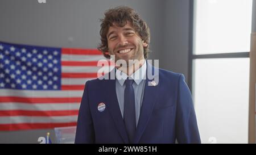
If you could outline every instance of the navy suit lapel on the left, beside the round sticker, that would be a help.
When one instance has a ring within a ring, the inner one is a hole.
[[[115,127],[117,128],[123,141],[125,143],[129,143],[125,124],[123,123],[122,114],[117,100],[117,93],[115,91],[115,79],[106,79],[106,88],[109,89],[106,92],[108,93],[109,111],[112,116],[112,119],[114,120]]]

